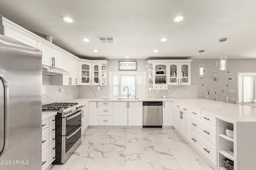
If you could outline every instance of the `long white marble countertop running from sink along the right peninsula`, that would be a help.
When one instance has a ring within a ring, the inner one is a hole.
[[[222,119],[223,121],[228,121],[230,123],[256,121],[255,107],[206,100],[203,98],[139,98],[139,100],[118,100],[116,98],[77,98],[73,100],[68,100],[66,102],[77,102],[79,104],[85,104],[86,102],[90,101],[172,101],[186,105],[190,108],[197,109],[199,111]]]

